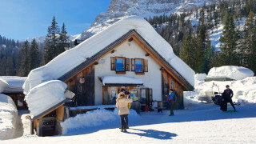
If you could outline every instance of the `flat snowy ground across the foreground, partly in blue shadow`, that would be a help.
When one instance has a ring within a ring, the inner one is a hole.
[[[172,117],[167,110],[142,113],[140,122],[130,123],[128,133],[121,133],[119,123],[113,123],[61,136],[25,135],[0,143],[256,143],[256,104],[236,107],[238,112],[222,112],[213,104],[198,104],[193,110],[174,110]]]

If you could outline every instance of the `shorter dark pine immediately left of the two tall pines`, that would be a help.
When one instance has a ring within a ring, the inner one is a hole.
[[[29,50],[29,68],[30,70],[33,70],[40,66],[40,52],[38,48],[38,43],[35,39],[31,42],[30,50]]]

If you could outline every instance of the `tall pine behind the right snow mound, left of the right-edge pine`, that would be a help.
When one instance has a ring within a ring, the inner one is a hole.
[[[226,13],[226,22],[220,42],[222,42],[221,53],[218,56],[219,66],[238,66],[238,55],[236,51],[238,36],[235,31],[233,14]]]

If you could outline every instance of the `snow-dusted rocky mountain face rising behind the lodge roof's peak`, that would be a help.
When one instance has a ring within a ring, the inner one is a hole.
[[[82,39],[90,38],[99,31],[122,18],[138,15],[143,18],[154,17],[162,14],[179,13],[202,6],[211,0],[112,0],[105,13],[98,14],[88,30],[81,34]]]

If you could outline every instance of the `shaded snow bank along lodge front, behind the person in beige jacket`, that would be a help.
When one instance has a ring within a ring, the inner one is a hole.
[[[138,116],[135,110],[130,110],[128,117],[129,124],[142,119],[140,116]],[[74,118],[68,118],[65,122],[61,123],[62,134],[67,134],[77,130],[102,130],[108,126],[119,125],[120,117],[118,115],[118,109],[115,109],[114,111],[105,109],[93,110],[87,112],[86,114],[78,114]]]

